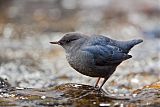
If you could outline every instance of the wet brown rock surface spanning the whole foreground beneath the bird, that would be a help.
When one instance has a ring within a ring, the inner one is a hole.
[[[126,97],[99,91],[93,86],[67,83],[44,89],[16,88],[1,93],[0,106],[158,106],[159,95],[159,82]]]

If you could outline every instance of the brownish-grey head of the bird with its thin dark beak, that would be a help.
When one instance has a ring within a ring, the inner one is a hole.
[[[50,42],[51,44],[61,45],[65,50],[69,50],[71,47],[75,46],[78,43],[81,43],[82,39],[85,38],[84,34],[71,32],[65,34],[59,41]]]

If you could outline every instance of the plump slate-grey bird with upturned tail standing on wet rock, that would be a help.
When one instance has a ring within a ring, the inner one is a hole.
[[[132,57],[128,55],[130,49],[141,42],[141,39],[117,41],[102,35],[88,36],[72,32],[50,43],[65,49],[67,61],[75,70],[90,77],[98,77],[95,87],[100,78],[104,78],[101,89],[117,66]]]

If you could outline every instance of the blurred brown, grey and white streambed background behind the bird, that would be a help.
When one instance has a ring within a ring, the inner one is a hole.
[[[94,85],[49,44],[66,32],[144,40],[105,89],[124,93],[160,80],[160,0],[0,0],[0,12],[0,77],[12,86]]]

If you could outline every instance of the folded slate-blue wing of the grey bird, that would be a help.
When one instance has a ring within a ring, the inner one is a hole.
[[[123,60],[129,59],[132,56],[123,53],[123,51],[111,45],[101,46],[85,46],[82,51],[92,54],[94,62],[98,66],[105,66],[110,64],[119,64]]]

